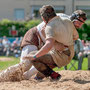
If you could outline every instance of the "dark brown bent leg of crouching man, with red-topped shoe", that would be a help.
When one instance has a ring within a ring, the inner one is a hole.
[[[33,60],[32,63],[38,71],[45,75],[45,77],[50,76],[52,79],[55,80],[61,77],[60,74],[52,70],[52,68],[56,67],[57,65],[53,61],[53,58],[50,54],[39,57],[36,60]]]

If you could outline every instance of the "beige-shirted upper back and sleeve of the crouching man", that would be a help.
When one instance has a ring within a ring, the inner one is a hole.
[[[45,29],[46,38],[53,37],[56,41],[64,45],[73,45],[74,29],[75,27],[70,20],[61,19],[57,16],[47,24]]]

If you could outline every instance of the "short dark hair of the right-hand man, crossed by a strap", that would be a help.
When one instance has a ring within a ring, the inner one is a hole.
[[[86,20],[87,19],[87,15],[82,10],[76,10],[76,11],[74,11],[74,13],[72,13],[70,19],[74,20],[74,19],[78,19],[78,18],[82,18],[83,20]]]

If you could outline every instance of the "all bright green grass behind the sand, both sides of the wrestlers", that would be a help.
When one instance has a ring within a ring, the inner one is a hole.
[[[4,70],[9,66],[12,66],[12,65],[15,65],[15,64],[19,63],[19,58],[15,58],[15,57],[10,57],[10,58],[12,59],[12,61],[0,61],[0,70]],[[73,63],[74,60],[72,60],[71,62]],[[71,64],[68,64],[67,68],[69,68],[70,65]],[[76,67],[76,69],[78,68],[78,61],[76,61],[75,67]],[[84,58],[83,63],[82,63],[82,70],[87,70],[87,69],[88,69],[88,59]],[[62,68],[54,68],[54,70],[55,71],[64,70],[64,67],[62,67]],[[72,67],[71,70],[75,70],[75,69]]]

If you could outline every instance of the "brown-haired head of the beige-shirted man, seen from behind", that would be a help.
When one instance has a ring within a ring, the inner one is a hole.
[[[40,8],[40,15],[47,23],[51,18],[56,16],[56,13],[51,5],[44,5]]]

